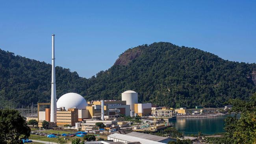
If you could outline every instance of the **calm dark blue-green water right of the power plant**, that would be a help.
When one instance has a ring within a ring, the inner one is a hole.
[[[225,132],[224,119],[226,116],[213,117],[213,118],[179,118],[177,120],[170,120],[169,123],[184,134],[202,134],[212,135],[215,133]]]

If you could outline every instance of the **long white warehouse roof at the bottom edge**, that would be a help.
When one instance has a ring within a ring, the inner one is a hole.
[[[140,142],[141,144],[163,144],[162,142],[155,142],[153,140],[147,140],[143,138],[138,138],[138,137],[132,137],[129,135],[122,135],[119,133],[114,133],[112,135],[108,135],[108,138],[116,138],[119,140],[124,140],[127,142]]]

